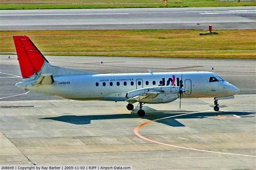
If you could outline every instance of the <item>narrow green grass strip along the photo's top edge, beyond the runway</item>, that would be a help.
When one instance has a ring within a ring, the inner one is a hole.
[[[91,8],[181,8],[181,7],[217,7],[217,6],[255,6],[256,2],[215,1],[215,0],[177,0],[169,1],[167,6],[163,1],[4,1],[0,10],[6,9],[91,9]],[[12,4],[10,4],[12,3]],[[46,4],[45,4],[46,3]],[[48,4],[47,4],[48,3]]]

